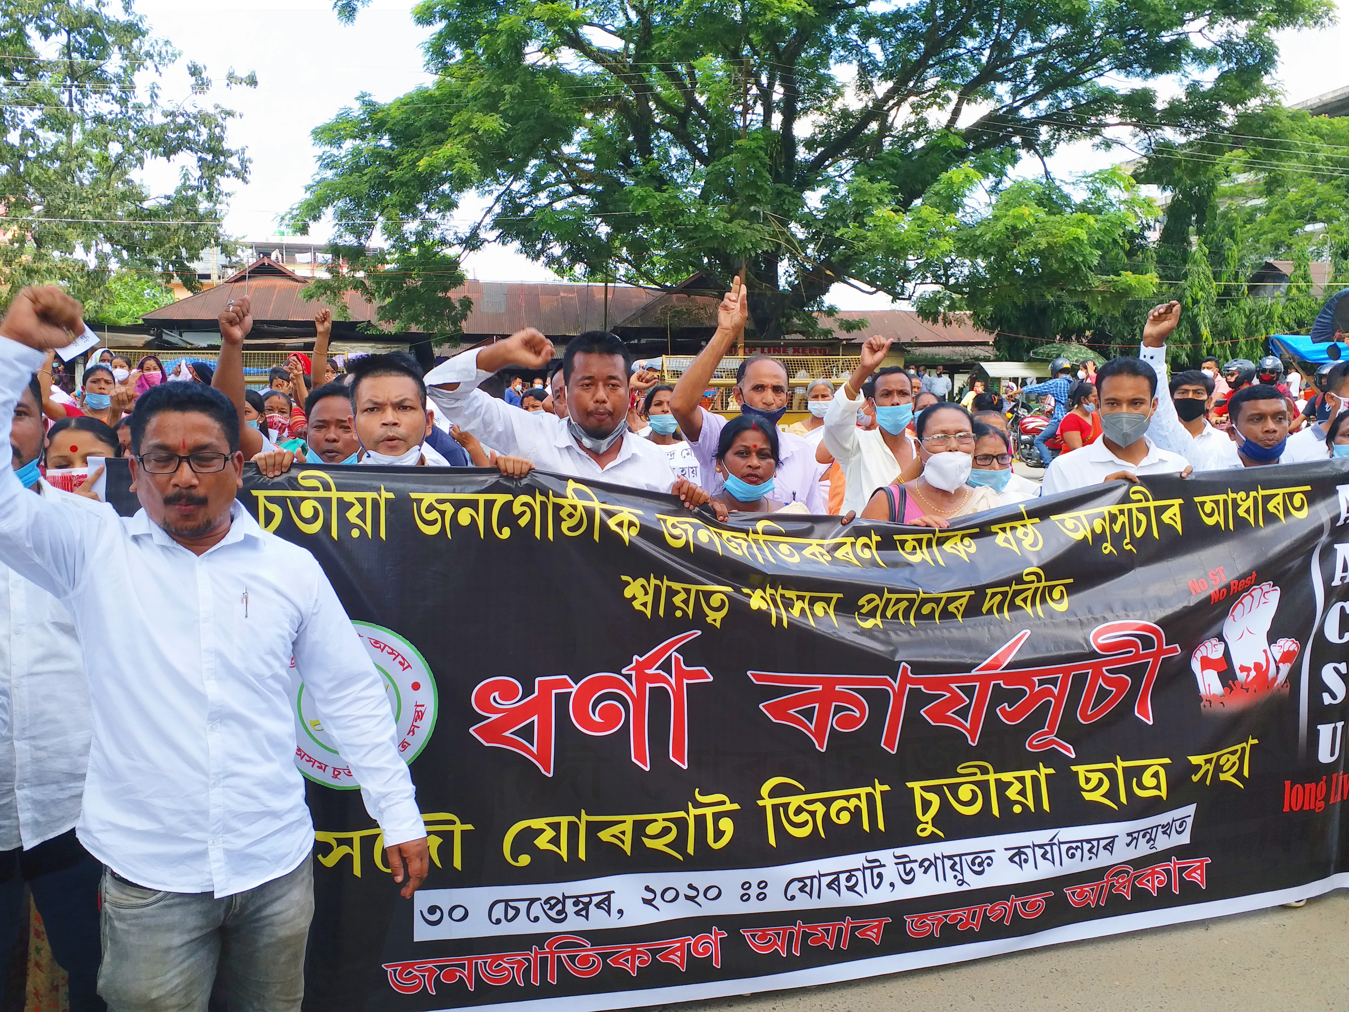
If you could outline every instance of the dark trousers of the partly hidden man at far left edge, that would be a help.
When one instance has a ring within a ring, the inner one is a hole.
[[[100,865],[76,839],[76,831],[43,841],[31,850],[0,853],[0,959],[28,930],[23,885],[42,915],[51,958],[70,982],[70,1012],[103,1012],[107,1005],[94,985],[98,978]],[[0,988],[5,970],[0,963]]]

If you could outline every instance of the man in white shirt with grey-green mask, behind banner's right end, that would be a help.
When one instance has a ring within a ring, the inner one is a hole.
[[[1045,468],[1044,495],[1085,488],[1139,475],[1187,475],[1193,470],[1179,453],[1147,437],[1157,410],[1157,374],[1139,359],[1113,359],[1097,370],[1101,398],[1101,439],[1071,453],[1060,453]]]

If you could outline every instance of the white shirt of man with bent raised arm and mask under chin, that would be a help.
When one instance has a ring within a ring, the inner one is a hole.
[[[526,457],[540,471],[669,493],[674,484],[665,451],[634,432],[623,433],[618,456],[600,468],[567,429],[567,420],[545,412],[522,412],[488,397],[478,385],[491,376],[478,368],[478,352],[465,351],[426,374],[426,393],[445,417],[499,453]],[[459,383],[445,390],[440,383]]]

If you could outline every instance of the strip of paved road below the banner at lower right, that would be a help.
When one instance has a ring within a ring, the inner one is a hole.
[[[680,1012],[1349,1012],[1349,891],[1257,911]]]

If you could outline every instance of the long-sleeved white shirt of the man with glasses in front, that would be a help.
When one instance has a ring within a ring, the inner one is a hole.
[[[40,364],[0,337],[0,445]],[[386,846],[426,835],[383,684],[328,578],[237,501],[231,517],[196,556],[144,510],[81,509],[0,474],[0,561],[61,598],[84,649],[80,842],[151,889],[229,896],[309,855],[291,657]]]

